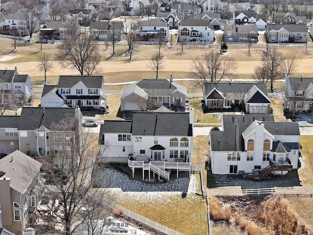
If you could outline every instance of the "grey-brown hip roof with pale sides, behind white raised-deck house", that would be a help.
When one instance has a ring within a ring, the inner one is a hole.
[[[120,99],[135,93],[141,97],[149,96],[171,96],[175,91],[187,95],[186,87],[183,87],[175,82],[170,83],[166,79],[143,79],[128,86],[125,86]]]

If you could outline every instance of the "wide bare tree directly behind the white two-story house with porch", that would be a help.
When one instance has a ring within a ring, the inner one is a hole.
[[[78,70],[81,75],[91,75],[100,63],[99,45],[88,36],[71,36],[64,40],[56,55],[64,68]]]

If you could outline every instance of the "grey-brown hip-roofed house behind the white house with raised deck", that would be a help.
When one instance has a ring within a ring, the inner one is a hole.
[[[185,106],[187,89],[165,79],[143,79],[125,86],[121,96],[121,111],[140,111]],[[124,118],[125,119],[125,118]]]

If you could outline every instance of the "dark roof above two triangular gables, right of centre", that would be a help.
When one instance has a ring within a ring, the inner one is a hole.
[[[234,83],[234,82],[207,82],[205,83],[205,94],[209,94],[213,88],[216,88],[222,94],[224,93],[247,93],[253,86],[257,86],[265,95],[268,91],[265,83]]]

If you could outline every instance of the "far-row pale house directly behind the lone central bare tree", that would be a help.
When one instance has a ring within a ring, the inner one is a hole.
[[[162,40],[168,42],[170,27],[167,22],[151,20],[139,21],[139,30],[136,41],[157,42]]]

